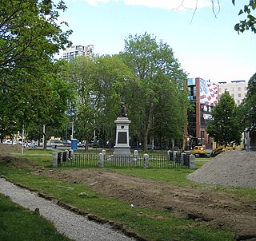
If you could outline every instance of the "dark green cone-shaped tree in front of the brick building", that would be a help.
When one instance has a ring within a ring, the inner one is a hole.
[[[240,144],[243,129],[238,121],[238,107],[229,92],[222,94],[211,114],[212,120],[206,128],[209,136],[218,144],[229,144],[233,141]]]

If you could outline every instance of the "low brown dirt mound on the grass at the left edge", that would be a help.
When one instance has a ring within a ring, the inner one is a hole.
[[[15,156],[0,156],[0,162],[6,164],[6,166],[14,168],[36,168],[37,165],[30,160],[18,158]]]

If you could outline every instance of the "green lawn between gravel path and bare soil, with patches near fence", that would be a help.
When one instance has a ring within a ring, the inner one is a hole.
[[[47,152],[48,153],[48,152]],[[41,163],[45,167],[50,166],[48,156],[42,158],[42,153],[38,155],[38,159],[34,155],[26,156],[30,160],[35,160],[37,164]],[[202,164],[202,163],[201,163]],[[117,172],[129,172],[129,169],[115,169]],[[173,180],[170,182],[182,183],[186,186],[184,176],[188,169],[156,169],[130,170],[133,175],[144,176],[143,178],[151,178],[160,180],[161,173],[168,171],[169,176]],[[150,172],[152,171],[152,172]],[[73,184],[70,182],[55,180],[46,176],[31,175],[32,170],[8,168],[0,164],[0,175],[6,176],[16,184],[21,184],[30,189],[38,190],[47,196],[62,201],[72,207],[78,207],[79,210],[92,215],[97,215],[102,219],[122,224],[127,231],[132,231],[138,236],[147,240],[233,240],[234,233],[221,229],[210,229],[205,225],[197,225],[194,220],[178,219],[171,216],[170,211],[155,211],[147,208],[130,208],[130,205],[122,202],[122,200],[105,198],[92,191],[90,185]],[[136,172],[134,174],[134,172]],[[166,177],[167,178],[167,177]],[[186,180],[186,178],[185,178]],[[162,179],[161,181],[166,181]]]

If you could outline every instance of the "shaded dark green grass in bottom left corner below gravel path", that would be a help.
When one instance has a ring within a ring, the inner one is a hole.
[[[53,223],[0,194],[0,240],[68,241],[70,239],[60,235]]]

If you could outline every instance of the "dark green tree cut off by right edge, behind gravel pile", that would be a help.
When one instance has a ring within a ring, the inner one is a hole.
[[[248,82],[246,98],[239,106],[239,117],[244,129],[256,130],[256,73]]]

